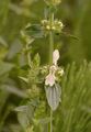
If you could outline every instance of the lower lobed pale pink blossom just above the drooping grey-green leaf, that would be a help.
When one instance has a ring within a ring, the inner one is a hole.
[[[46,85],[46,86],[50,86],[50,87],[54,86],[54,85],[55,85],[55,79],[56,79],[55,75],[52,74],[52,73],[49,73],[49,74],[46,76],[45,85]]]

